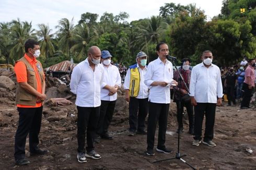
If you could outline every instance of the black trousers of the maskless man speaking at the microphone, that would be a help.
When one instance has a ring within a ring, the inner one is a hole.
[[[156,125],[158,123],[157,148],[165,148],[165,136],[170,104],[149,102],[148,124],[147,124],[147,149],[154,148]]]

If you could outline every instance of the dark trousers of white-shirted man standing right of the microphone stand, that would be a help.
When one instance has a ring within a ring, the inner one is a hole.
[[[205,131],[204,141],[213,139],[214,121],[215,121],[216,103],[197,103],[194,106],[195,112],[195,127],[194,127],[194,139],[201,140],[202,136],[202,124],[205,115]]]

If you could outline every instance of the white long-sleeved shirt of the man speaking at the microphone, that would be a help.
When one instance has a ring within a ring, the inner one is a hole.
[[[166,60],[164,64],[158,57],[150,62],[145,75],[145,84],[150,88],[148,101],[153,103],[168,104],[171,102],[170,86],[150,86],[154,81],[165,81],[171,83],[173,81],[172,63]]]

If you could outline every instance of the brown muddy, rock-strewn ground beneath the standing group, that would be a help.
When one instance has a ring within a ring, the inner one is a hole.
[[[176,104],[172,102],[170,105],[166,135],[166,146],[171,148],[173,153],[162,154],[155,151],[155,156],[147,156],[146,135],[127,136],[128,107],[121,94],[109,128],[109,133],[114,139],[101,140],[95,145],[96,151],[102,156],[100,160],[87,159],[87,163],[77,162],[76,106],[45,105],[40,148],[48,149],[50,153],[30,156],[27,140],[26,157],[31,163],[17,166],[13,154],[18,112],[13,93],[0,93],[0,169],[191,169],[177,159],[153,163],[156,160],[169,159],[175,156],[177,151]],[[74,98],[71,99],[74,102]],[[214,136],[217,147],[214,148],[204,144],[193,146],[193,137],[188,133],[188,124],[185,124],[185,131],[180,140],[180,153],[187,154],[183,160],[196,169],[256,169],[255,121],[255,109],[240,110],[238,106],[226,106],[226,103],[217,107]],[[185,120],[185,123],[187,122]],[[156,145],[157,136],[155,139]],[[251,148],[252,154],[246,151],[248,148]]]

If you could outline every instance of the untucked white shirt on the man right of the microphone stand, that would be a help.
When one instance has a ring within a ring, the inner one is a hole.
[[[190,96],[199,103],[217,103],[222,98],[222,78],[219,68],[212,64],[209,68],[203,63],[193,67],[190,79]]]

